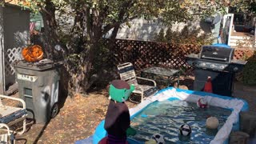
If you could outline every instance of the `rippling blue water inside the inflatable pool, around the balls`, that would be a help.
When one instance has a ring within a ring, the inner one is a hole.
[[[210,116],[218,118],[220,129],[230,114],[230,110],[215,106],[201,109],[193,102],[154,102],[133,118],[131,126],[137,130],[133,138],[145,142],[153,134],[162,134],[166,143],[210,143],[218,130],[206,129],[206,119]],[[178,134],[178,128],[184,123],[192,128],[190,137]]]

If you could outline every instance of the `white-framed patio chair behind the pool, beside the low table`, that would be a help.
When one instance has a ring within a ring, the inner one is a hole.
[[[151,94],[154,94],[158,90],[156,86],[156,82],[154,80],[137,77],[134,71],[134,66],[130,62],[126,62],[118,65],[118,72],[122,80],[128,82],[129,84],[134,84],[135,90],[133,91],[133,93],[141,94],[141,102],[143,101],[145,96],[150,96]],[[143,81],[143,84],[138,83],[142,81]]]

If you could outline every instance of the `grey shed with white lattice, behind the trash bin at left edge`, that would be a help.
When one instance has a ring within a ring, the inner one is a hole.
[[[30,11],[6,3],[0,6],[0,94],[15,82],[12,62],[21,58],[30,40]]]

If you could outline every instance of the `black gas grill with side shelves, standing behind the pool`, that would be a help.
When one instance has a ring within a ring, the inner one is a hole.
[[[194,67],[194,90],[203,90],[210,76],[214,94],[232,96],[234,74],[246,64],[233,57],[233,48],[221,46],[202,46],[199,54],[188,55],[187,62]]]

